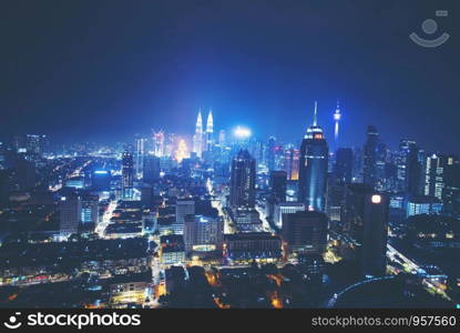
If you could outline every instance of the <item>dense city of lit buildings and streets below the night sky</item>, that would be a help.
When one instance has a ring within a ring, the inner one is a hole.
[[[378,123],[344,147],[341,104],[306,109],[296,142],[217,107],[187,133],[2,142],[0,306],[456,307],[459,158]]]

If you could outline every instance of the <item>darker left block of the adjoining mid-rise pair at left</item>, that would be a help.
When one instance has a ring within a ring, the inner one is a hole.
[[[79,232],[79,225],[81,221],[82,202],[81,198],[76,194],[70,194],[61,196],[59,202],[60,212],[60,234],[63,238],[68,238],[71,234]]]

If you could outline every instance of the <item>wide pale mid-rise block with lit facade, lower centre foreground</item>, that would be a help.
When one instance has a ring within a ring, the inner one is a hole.
[[[184,220],[184,243],[187,254],[194,252],[222,251],[224,221],[221,218],[186,215]]]

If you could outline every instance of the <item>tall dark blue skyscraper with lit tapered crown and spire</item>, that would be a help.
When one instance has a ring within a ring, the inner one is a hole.
[[[317,103],[313,124],[300,145],[300,165],[298,179],[298,201],[304,202],[307,210],[324,211],[326,195],[326,178],[328,164],[328,147],[323,129],[317,123]]]

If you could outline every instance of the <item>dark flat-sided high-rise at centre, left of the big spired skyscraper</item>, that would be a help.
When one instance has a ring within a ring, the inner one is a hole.
[[[239,150],[232,161],[229,201],[233,208],[254,208],[256,162],[247,150]]]

